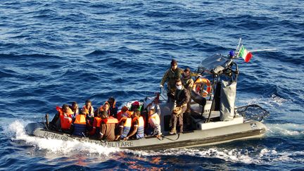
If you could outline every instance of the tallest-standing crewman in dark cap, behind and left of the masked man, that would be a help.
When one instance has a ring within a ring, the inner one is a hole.
[[[167,82],[167,96],[174,99],[175,96],[175,80],[180,79],[182,69],[177,67],[177,61],[172,59],[171,67],[163,75],[163,79],[160,82],[160,87],[163,87]]]

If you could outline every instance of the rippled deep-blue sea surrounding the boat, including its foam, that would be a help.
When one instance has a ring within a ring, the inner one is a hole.
[[[1,1],[0,170],[304,170],[304,1]],[[196,70],[239,38],[237,106],[270,111],[262,139],[129,151],[29,137],[56,106],[118,106],[159,91],[175,58]]]

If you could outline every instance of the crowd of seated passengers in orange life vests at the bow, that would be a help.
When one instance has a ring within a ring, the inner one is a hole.
[[[160,107],[154,100],[143,110],[139,101],[134,101],[130,108],[123,106],[118,112],[115,99],[110,97],[102,106],[94,110],[90,100],[84,106],[78,107],[63,104],[56,107],[58,113],[50,122],[50,127],[81,137],[94,137],[106,141],[141,139],[144,135],[160,137]],[[148,123],[148,125],[145,125]]]

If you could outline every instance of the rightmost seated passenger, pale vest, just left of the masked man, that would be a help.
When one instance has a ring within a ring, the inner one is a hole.
[[[148,110],[148,134],[156,136],[156,138],[161,137],[161,128],[160,128],[160,118],[158,113],[156,113],[155,107],[151,107]]]

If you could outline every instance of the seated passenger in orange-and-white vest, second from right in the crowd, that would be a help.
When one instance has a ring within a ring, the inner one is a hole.
[[[144,138],[144,119],[141,117],[141,111],[137,110],[132,115],[132,127],[127,137],[124,140],[131,138],[142,139]]]

